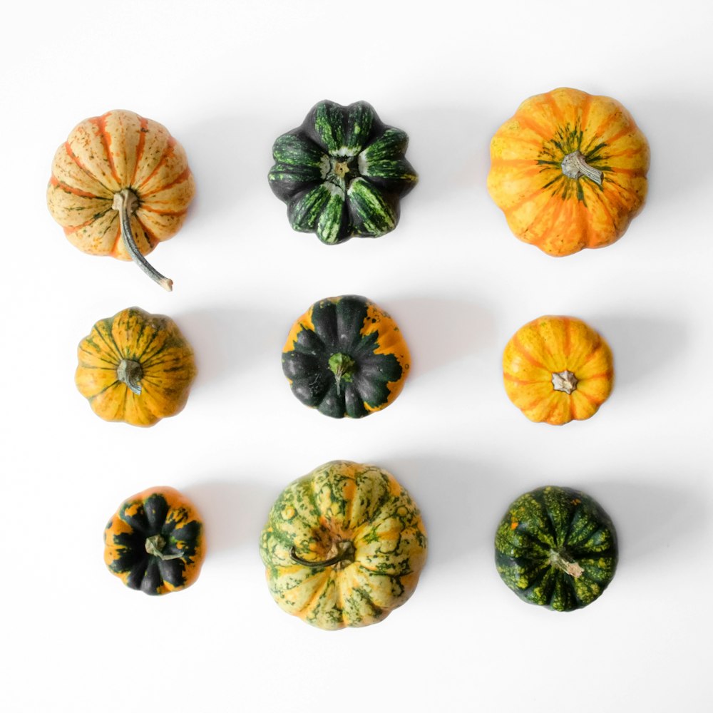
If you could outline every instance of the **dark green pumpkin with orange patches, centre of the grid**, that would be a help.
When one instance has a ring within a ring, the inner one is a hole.
[[[401,393],[410,366],[394,319],[353,294],[315,302],[294,322],[282,349],[292,393],[335,419],[385,409]]]

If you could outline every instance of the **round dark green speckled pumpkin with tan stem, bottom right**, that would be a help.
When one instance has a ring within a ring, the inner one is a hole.
[[[617,533],[594,498],[548,486],[511,504],[495,553],[498,573],[520,599],[569,612],[591,604],[612,580]]]

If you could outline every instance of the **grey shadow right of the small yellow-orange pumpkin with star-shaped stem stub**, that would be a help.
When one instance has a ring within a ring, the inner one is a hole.
[[[687,341],[684,324],[671,319],[605,315],[593,322],[612,348],[616,389],[626,389],[664,369]]]

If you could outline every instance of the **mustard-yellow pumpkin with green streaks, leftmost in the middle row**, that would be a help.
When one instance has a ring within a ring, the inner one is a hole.
[[[100,319],[78,348],[75,381],[97,416],[153,426],[178,414],[196,369],[175,322],[138,307]]]

